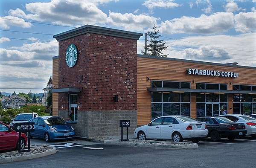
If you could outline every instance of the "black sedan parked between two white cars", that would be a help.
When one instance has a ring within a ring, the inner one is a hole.
[[[221,138],[234,140],[247,134],[244,123],[236,123],[226,117],[206,116],[198,117],[196,120],[206,122],[209,131],[207,137],[212,141],[219,141]]]

